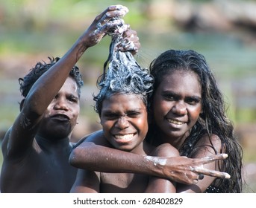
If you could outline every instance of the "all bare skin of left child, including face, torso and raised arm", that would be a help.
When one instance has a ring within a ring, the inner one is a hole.
[[[119,25],[110,19],[127,12],[126,7],[107,7],[63,58],[34,83],[4,136],[1,192],[70,191],[77,169],[69,165],[69,139],[80,107],[77,85],[69,71],[84,51]]]

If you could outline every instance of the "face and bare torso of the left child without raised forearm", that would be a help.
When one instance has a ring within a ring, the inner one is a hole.
[[[57,93],[57,98],[46,109],[43,118],[40,118],[40,123],[35,123],[36,127],[31,131],[25,131],[26,126],[19,126],[25,110],[9,129],[3,143],[3,150],[6,149],[3,151],[1,172],[2,192],[66,192],[70,189],[75,180],[76,169],[70,168],[67,163],[72,147],[69,146],[70,130],[65,129],[75,126],[79,113],[75,86],[73,79],[66,80]],[[68,100],[71,93],[76,97],[76,102]],[[69,119],[64,118],[64,114]],[[16,131],[13,131],[14,128]],[[56,136],[57,133],[59,134]],[[36,135],[31,140],[33,134]],[[22,135],[22,139],[19,139],[19,135]],[[7,138],[12,143],[7,143]]]

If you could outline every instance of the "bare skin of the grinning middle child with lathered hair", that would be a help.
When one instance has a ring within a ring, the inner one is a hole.
[[[100,116],[104,146],[137,155],[178,156],[171,146],[154,146],[144,141],[148,131],[147,110],[136,94],[113,94],[102,104]],[[155,149],[155,150],[154,150]],[[169,155],[163,155],[169,152]],[[158,181],[159,180],[159,181]],[[147,189],[149,183],[151,187]],[[157,189],[154,184],[157,183]],[[163,184],[164,186],[161,186]],[[134,173],[93,172],[80,169],[71,192],[175,192],[172,181]],[[166,191],[167,192],[167,191]]]

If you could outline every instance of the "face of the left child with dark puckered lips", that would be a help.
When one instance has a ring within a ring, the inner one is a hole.
[[[68,77],[46,109],[40,123],[40,135],[56,139],[68,137],[77,123],[79,111],[78,88],[75,80]]]

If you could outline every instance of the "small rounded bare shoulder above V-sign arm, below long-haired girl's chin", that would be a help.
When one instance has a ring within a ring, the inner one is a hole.
[[[153,151],[154,156],[158,157],[178,157],[179,152],[174,146],[169,143],[163,143],[157,146]]]

